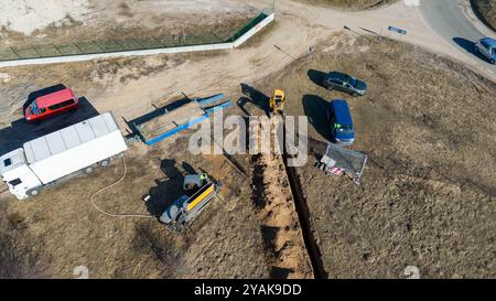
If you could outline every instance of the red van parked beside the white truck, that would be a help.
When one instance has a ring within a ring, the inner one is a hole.
[[[74,92],[65,88],[35,98],[24,111],[29,122],[40,122],[53,116],[77,109],[78,99]]]

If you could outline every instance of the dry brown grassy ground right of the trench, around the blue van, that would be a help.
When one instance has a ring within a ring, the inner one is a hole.
[[[360,186],[314,168],[322,148],[299,169],[326,273],[400,278],[417,266],[424,278],[494,278],[496,84],[398,42],[328,41],[260,82],[266,94],[283,88],[287,114],[308,115],[321,141],[328,101],[348,99],[354,149],[369,155]],[[321,87],[333,69],[365,79],[369,94]]]

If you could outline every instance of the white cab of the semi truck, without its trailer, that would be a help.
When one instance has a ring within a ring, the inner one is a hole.
[[[36,196],[43,185],[29,168],[23,149],[0,157],[0,176],[19,200]]]

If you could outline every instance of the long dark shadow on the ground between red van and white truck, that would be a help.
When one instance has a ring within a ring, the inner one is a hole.
[[[30,98],[33,95],[44,95],[36,93],[39,92],[32,93]],[[34,98],[32,98],[31,101],[39,96],[33,97]],[[30,100],[26,101],[28,106],[31,104],[29,101]],[[28,141],[69,127],[97,115],[99,115],[99,112],[88,101],[88,99],[86,99],[86,97],[79,97],[79,107],[73,112],[64,112],[54,116],[47,120],[43,120],[43,122],[39,125],[30,123],[25,121],[24,118],[18,119],[13,121],[10,127],[0,129],[0,154],[22,148],[22,146]]]

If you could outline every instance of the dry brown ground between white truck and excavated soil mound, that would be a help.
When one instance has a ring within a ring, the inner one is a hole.
[[[2,196],[2,214],[6,211],[10,218],[1,219],[6,232],[0,241],[7,244],[11,239],[6,235],[15,235],[9,227],[22,226],[25,237],[40,239],[30,246],[43,246],[20,249],[22,260],[12,269],[28,266],[25,260],[36,256],[39,269],[22,277],[72,278],[77,266],[87,267],[90,278],[269,277],[260,256],[265,247],[249,198],[249,181],[236,176],[224,157],[188,154],[184,151],[187,141],[187,136],[179,136],[151,149],[133,144],[126,153],[123,182],[95,198],[110,213],[158,216],[182,194],[183,175],[204,170],[223,181],[223,201],[208,205],[186,234],[174,234],[155,218],[108,217],[90,205],[93,192],[122,174],[122,163],[116,160],[95,175],[77,176],[36,200]],[[152,197],[144,203],[147,194]]]

